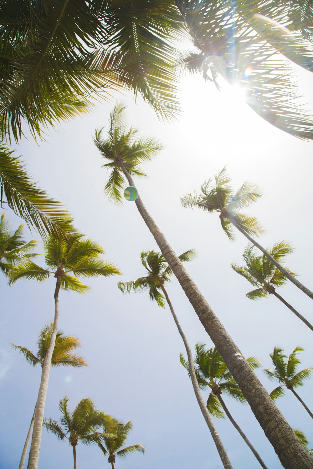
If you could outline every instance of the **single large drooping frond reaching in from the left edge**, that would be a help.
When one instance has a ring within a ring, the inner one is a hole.
[[[4,144],[0,144],[0,200],[41,236],[60,236],[71,228],[72,217],[65,207],[32,181],[21,157]]]

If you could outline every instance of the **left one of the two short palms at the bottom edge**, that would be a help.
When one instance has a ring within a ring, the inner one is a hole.
[[[47,431],[51,431],[58,439],[68,439],[73,447],[74,469],[76,469],[76,446],[78,441],[84,445],[98,442],[97,429],[105,425],[111,417],[100,412],[94,406],[91,399],[85,398],[78,402],[72,413],[68,409],[69,399],[65,396],[59,403],[62,417],[60,424],[52,418],[45,418],[43,425]]]

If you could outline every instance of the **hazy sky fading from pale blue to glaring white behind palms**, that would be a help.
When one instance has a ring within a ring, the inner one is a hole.
[[[300,83],[305,102],[313,109],[312,75]],[[83,233],[101,243],[106,257],[123,277],[87,279],[87,295],[60,292],[60,329],[82,342],[79,354],[88,368],[57,368],[50,372],[45,416],[59,419],[59,400],[67,395],[69,408],[91,397],[97,408],[127,422],[134,430],[127,444],[142,442],[144,455],[117,460],[116,469],[221,469],[222,464],[206,423],[198,408],[187,372],[179,363],[183,342],[168,308],[158,307],[148,294],[122,295],[119,280],[135,280],[144,274],[140,251],[157,249],[135,203],[120,207],[103,194],[107,172],[92,143],[96,127],[105,127],[115,98],[127,104],[129,122],[141,135],[156,136],[164,149],[145,164],[148,178],[137,179],[137,189],[146,207],[163,230],[177,254],[194,248],[198,258],[186,265],[227,331],[244,356],[257,356],[270,367],[268,354],[274,346],[289,355],[301,345],[302,368],[313,365],[312,331],[275,297],[252,302],[245,293],[252,287],[230,264],[241,263],[246,239],[238,233],[229,242],[217,214],[181,207],[179,197],[199,190],[204,180],[225,165],[234,188],[244,181],[256,182],[264,197],[249,213],[267,229],[263,246],[287,240],[295,246],[288,265],[299,280],[312,282],[312,143],[302,142],[262,120],[235,94],[221,95],[201,77],[184,77],[180,99],[182,116],[176,122],[160,122],[141,98],[114,95],[90,114],[64,122],[36,144],[23,138],[16,154],[22,154],[34,180],[53,197],[67,205]],[[128,184],[125,184],[125,187]],[[21,220],[7,210],[17,227]],[[27,240],[38,234],[25,231]],[[42,250],[39,250],[42,252]],[[44,265],[44,257],[38,259]],[[36,351],[40,329],[53,319],[54,279],[43,284],[20,280],[14,287],[0,277],[0,469],[16,469],[31,421],[40,382],[40,368],[33,369],[10,342]],[[311,300],[294,285],[279,293],[309,321]],[[196,341],[213,344],[174,278],[170,296],[184,332],[193,349]],[[302,369],[301,368],[301,369]],[[257,371],[268,391],[277,385]],[[299,395],[308,407],[313,383],[307,380]],[[205,394],[205,399],[207,394]],[[269,469],[281,464],[250,408],[225,396],[230,412],[260,453]],[[312,420],[291,392],[277,401],[293,428],[309,437],[313,446]],[[227,419],[215,420],[234,469],[258,469],[259,463]],[[72,467],[72,448],[43,429],[39,467]],[[97,447],[77,446],[77,468],[108,467]]]

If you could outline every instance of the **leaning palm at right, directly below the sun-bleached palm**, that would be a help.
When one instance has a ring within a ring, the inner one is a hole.
[[[240,267],[238,264],[231,264],[235,272],[242,275],[253,287],[258,287],[247,293],[246,296],[251,300],[257,300],[258,298],[267,297],[268,295],[274,295],[313,331],[313,325],[287,303],[281,295],[276,293],[275,287],[282,287],[287,281],[286,276],[278,270],[264,254],[263,256],[256,256],[253,251],[254,248],[252,245],[246,246],[243,254],[244,266]],[[277,261],[286,257],[292,251],[293,249],[290,244],[284,241],[277,242],[272,248],[267,248],[269,255]],[[290,275],[295,275],[288,267],[284,267],[284,269],[287,270]]]

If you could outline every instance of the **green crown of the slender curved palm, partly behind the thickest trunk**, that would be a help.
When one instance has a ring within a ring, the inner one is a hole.
[[[195,250],[191,249],[178,258],[182,262],[189,262],[196,257]],[[149,297],[155,300],[159,306],[165,308],[165,297],[160,293],[162,286],[170,281],[172,270],[168,266],[165,258],[160,252],[142,251],[140,254],[141,263],[145,267],[147,275],[130,282],[119,282],[118,287],[123,293],[143,292],[148,290]]]

